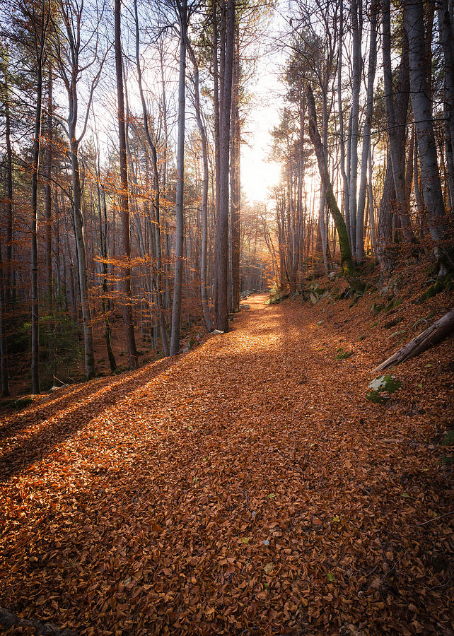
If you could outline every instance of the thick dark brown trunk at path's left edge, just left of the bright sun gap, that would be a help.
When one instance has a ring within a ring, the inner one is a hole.
[[[221,73],[221,137],[219,170],[219,211],[216,223],[216,298],[214,304],[216,329],[228,329],[228,167],[230,154],[230,118],[232,98],[233,45],[235,4],[227,0],[226,51]]]

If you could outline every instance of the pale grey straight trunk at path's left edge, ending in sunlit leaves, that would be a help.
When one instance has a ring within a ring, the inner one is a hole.
[[[170,334],[170,355],[180,351],[180,317],[182,300],[184,214],[183,198],[185,189],[185,86],[186,86],[186,40],[187,40],[187,0],[178,4],[180,16],[180,70],[178,81],[178,139],[177,139],[177,188],[175,194],[175,276],[173,279],[172,329]]]

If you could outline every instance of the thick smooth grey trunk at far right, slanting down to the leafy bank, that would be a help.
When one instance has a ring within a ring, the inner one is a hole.
[[[434,251],[441,264],[441,273],[454,266],[452,250],[444,249],[445,206],[441,190],[440,173],[436,151],[431,100],[428,96],[428,82],[425,69],[424,7],[421,2],[404,0],[404,29],[409,45],[410,90],[414,125],[416,128],[419,162],[421,164],[421,184],[429,230]]]

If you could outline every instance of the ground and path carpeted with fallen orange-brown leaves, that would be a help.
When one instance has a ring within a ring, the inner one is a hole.
[[[453,634],[453,340],[366,399],[452,299],[395,329],[374,295],[266,299],[189,353],[5,412],[0,606],[79,635]]]

